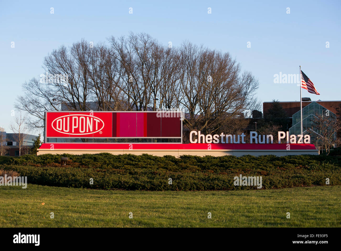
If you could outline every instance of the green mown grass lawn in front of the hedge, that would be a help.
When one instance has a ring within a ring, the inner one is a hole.
[[[0,186],[0,226],[341,227],[340,194],[341,186],[204,192]]]

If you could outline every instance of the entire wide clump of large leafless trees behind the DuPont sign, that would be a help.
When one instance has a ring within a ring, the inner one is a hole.
[[[61,105],[80,111],[142,111],[156,108],[158,100],[159,108],[185,112],[189,130],[212,134],[226,125],[237,130],[240,123],[233,119],[255,106],[258,81],[250,72],[241,73],[229,53],[189,42],[168,48],[146,33],[108,41],[109,46],[92,47],[81,40],[45,57],[43,69],[53,81],[26,82],[26,94],[16,104],[32,115],[31,127],[42,127],[44,111],[58,111]]]

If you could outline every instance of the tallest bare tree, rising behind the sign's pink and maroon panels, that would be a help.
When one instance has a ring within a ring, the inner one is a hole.
[[[109,41],[114,59],[118,60],[124,72],[120,90],[127,98],[128,106],[131,110],[147,110],[160,59],[155,55],[159,53],[156,41],[145,33],[131,33],[128,39],[111,37]]]

